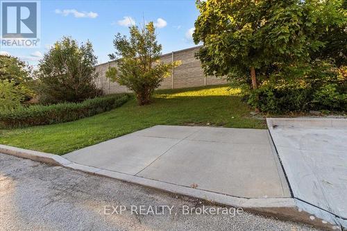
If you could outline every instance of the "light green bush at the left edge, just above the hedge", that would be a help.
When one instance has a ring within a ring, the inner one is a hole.
[[[9,80],[0,80],[0,111],[18,108],[24,100],[24,92]]]

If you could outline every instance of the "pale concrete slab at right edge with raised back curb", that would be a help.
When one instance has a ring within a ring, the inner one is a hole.
[[[347,119],[283,121],[268,124],[294,197],[346,219]]]

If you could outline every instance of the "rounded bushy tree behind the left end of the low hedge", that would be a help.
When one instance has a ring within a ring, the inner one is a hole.
[[[96,96],[99,93],[94,83],[96,62],[89,41],[79,46],[71,37],[63,37],[38,65],[40,101],[78,102]]]

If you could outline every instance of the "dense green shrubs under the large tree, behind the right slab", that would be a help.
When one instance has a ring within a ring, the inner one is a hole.
[[[344,111],[347,82],[341,77],[331,62],[316,61],[281,69],[246,95],[248,103],[263,112]]]

